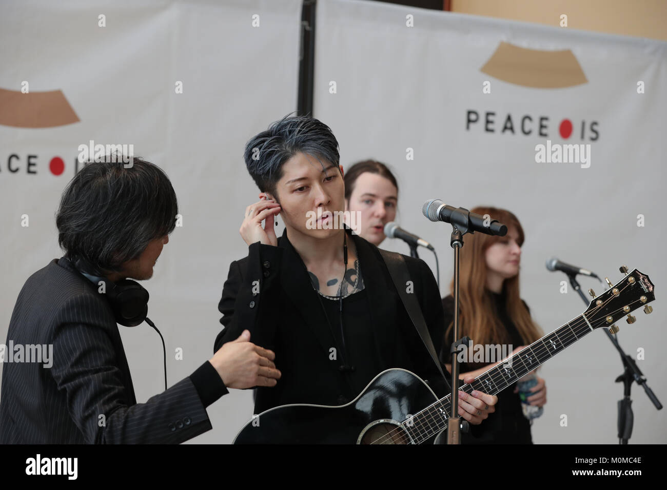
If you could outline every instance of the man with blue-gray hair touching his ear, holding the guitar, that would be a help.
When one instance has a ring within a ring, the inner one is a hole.
[[[284,117],[247,142],[244,158],[260,201],[245,209],[239,231],[248,255],[229,267],[219,302],[225,329],[215,349],[248,329],[257,345],[275,352],[281,381],[257,388],[255,414],[293,403],[346,405],[391,368],[412,371],[445,395],[448,383],[380,250],[343,223],[344,169],[331,129],[311,117]],[[277,215],[285,225],[279,239]],[[441,345],[436,280],[424,261],[404,260],[427,335]],[[465,394],[460,414],[481,423],[496,400]]]

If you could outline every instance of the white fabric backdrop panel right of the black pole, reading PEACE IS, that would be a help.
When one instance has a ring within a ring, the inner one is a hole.
[[[414,27],[406,25],[408,15]],[[442,294],[448,294],[453,270],[451,227],[424,218],[422,203],[431,197],[468,209],[496,205],[518,215],[526,231],[522,296],[545,332],[584,311],[576,292],[560,293],[566,277],[546,271],[546,259],[556,255],[613,282],[621,277],[620,265],[637,267],[657,285],[655,311],[638,311],[634,325],[618,322],[618,335],[630,355],[645,349],[638,365],[664,403],[667,365],[659,346],[667,340],[661,301],[667,43],[352,0],[318,2],[316,37],[313,115],[338,137],[344,167],[373,157],[396,169],[397,221],[436,245]],[[540,89],[482,73],[502,41],[569,49],[588,82]],[[490,93],[483,93],[484,81],[490,81]],[[644,82],[643,94],[637,93],[638,81]],[[468,110],[478,111],[480,122],[466,131]],[[490,125],[495,132],[485,131],[487,111],[496,113]],[[502,133],[508,114],[514,135]],[[524,115],[532,117],[530,135],[520,132]],[[548,137],[538,135],[540,117],[548,117]],[[558,131],[565,118],[574,124],[569,139]],[[592,121],[596,141],[588,139],[594,137]],[[536,163],[535,146],[547,139],[590,144],[590,167]],[[412,161],[406,159],[408,148]],[[637,225],[639,214],[644,227]],[[383,245],[408,250],[398,241]],[[434,267],[430,252],[422,250]],[[596,281],[580,282],[602,292]],[[622,365],[605,337],[592,333],[541,370],[548,403],[533,425],[536,443],[617,442],[622,386],[614,379]],[[631,441],[667,442],[664,410],[656,411],[636,385],[632,398]],[[560,425],[562,415],[568,416],[567,427]]]

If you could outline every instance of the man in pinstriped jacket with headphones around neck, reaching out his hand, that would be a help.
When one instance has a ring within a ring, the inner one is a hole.
[[[127,278],[153,275],[178,207],[159,167],[110,160],[119,163],[89,163],[69,183],[56,218],[65,256],[19,293],[7,344],[48,346],[51,355],[5,364],[0,443],[181,443],[211,429],[206,407],[228,387],[274,386],[280,375],[273,352],[243,331],[189,377],[137,403],[117,322],[145,318],[148,295]]]

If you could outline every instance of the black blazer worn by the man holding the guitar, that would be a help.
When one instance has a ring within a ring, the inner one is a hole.
[[[449,385],[412,325],[380,251],[349,229],[348,234],[360,259],[381,364],[413,371],[444,395]],[[440,345],[444,313],[436,279],[424,261],[405,259],[434,344]],[[340,363],[329,359],[336,341],[286,231],[277,247],[253,243],[247,257],[231,263],[218,309],[225,329],[215,339],[215,350],[248,329],[251,342],[275,351],[282,376],[275,387],[257,388],[255,413],[289,403],[342,405],[358,395]]]

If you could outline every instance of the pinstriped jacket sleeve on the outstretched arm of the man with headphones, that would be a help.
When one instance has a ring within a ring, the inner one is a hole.
[[[146,403],[133,403],[99,298],[77,295],[57,316],[50,375],[66,393],[69,415],[87,443],[181,443],[212,428],[189,377]]]

